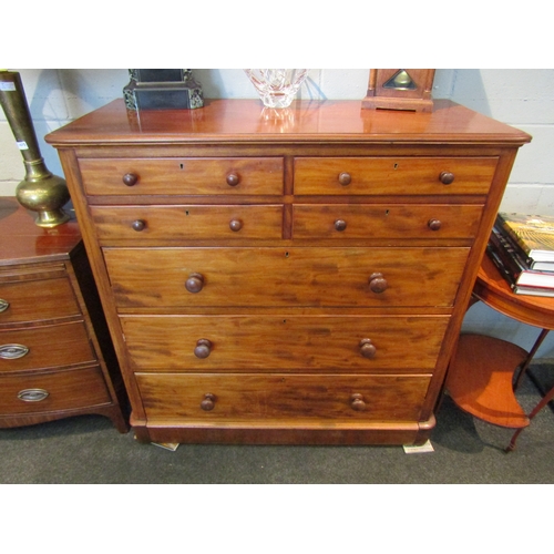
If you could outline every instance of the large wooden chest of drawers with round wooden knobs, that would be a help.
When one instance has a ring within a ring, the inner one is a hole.
[[[47,136],[141,441],[418,444],[530,136],[433,113],[123,101]]]

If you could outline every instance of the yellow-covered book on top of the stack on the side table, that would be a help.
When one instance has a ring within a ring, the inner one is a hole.
[[[500,212],[495,226],[520,248],[531,269],[538,269],[540,263],[554,266],[554,217]]]

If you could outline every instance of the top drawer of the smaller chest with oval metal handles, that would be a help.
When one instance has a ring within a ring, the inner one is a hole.
[[[68,277],[0,281],[0,327],[81,314]]]

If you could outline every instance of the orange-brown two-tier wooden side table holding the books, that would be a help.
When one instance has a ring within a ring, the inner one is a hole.
[[[554,329],[554,298],[514,294],[485,255],[471,305],[479,300],[510,318],[541,328],[529,352],[497,338],[462,334],[449,369],[447,389],[459,408],[489,423],[516,429],[506,448],[511,451],[520,432],[554,397],[553,388],[527,416],[514,394],[536,350]]]

